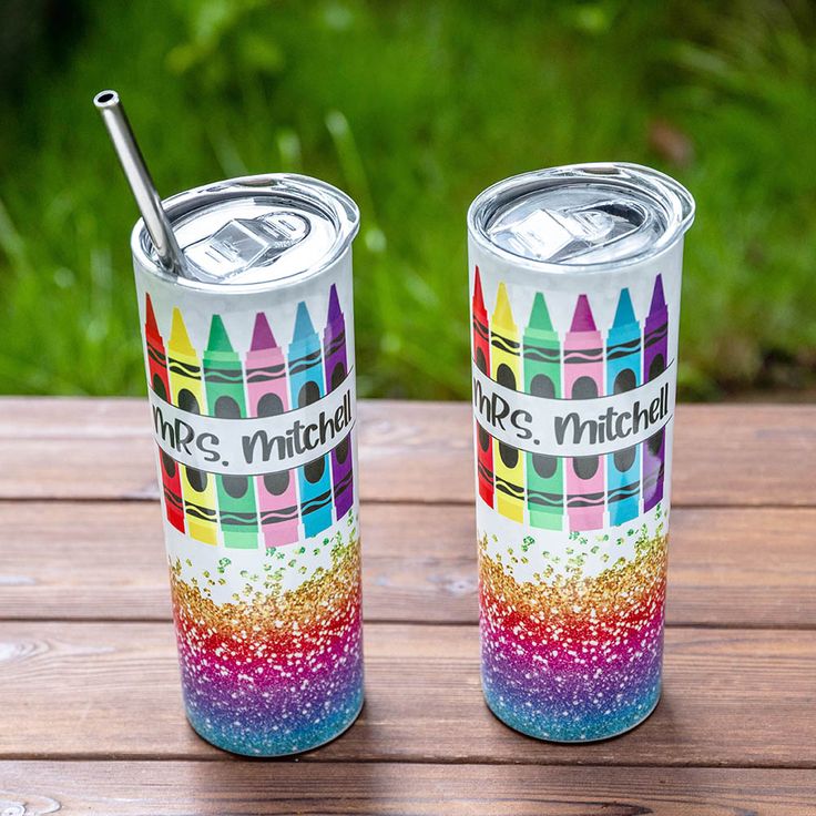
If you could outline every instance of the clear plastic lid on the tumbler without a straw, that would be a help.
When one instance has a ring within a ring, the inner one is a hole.
[[[575,164],[494,184],[471,205],[468,225],[493,252],[595,268],[659,253],[693,218],[691,194],[663,173],[636,164]]]

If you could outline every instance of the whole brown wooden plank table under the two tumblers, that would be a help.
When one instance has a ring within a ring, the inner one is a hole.
[[[366,706],[246,761],[182,712],[146,405],[0,400],[0,813],[816,813],[816,407],[679,408],[663,700],[583,746],[482,702],[469,408],[360,425]]]

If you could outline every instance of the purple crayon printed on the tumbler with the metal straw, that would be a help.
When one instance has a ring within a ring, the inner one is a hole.
[[[328,296],[328,317],[323,332],[326,390],[334,391],[348,374],[346,354],[346,319],[343,316],[337,287],[332,286]],[[335,497],[335,518],[339,521],[354,501],[354,472],[351,470],[351,431],[332,451],[332,484]]]

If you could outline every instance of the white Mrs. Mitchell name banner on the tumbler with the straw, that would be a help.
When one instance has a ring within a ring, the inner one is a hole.
[[[225,419],[183,411],[147,389],[153,435],[172,459],[211,473],[255,476],[319,459],[355,424],[354,371],[330,394],[274,417]]]

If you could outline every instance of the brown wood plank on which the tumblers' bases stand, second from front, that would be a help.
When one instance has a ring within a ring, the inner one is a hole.
[[[327,761],[816,767],[816,633],[670,629],[662,702],[618,740],[512,732],[479,690],[476,626],[370,624],[367,702]],[[181,711],[166,623],[0,625],[0,758],[220,755]]]

